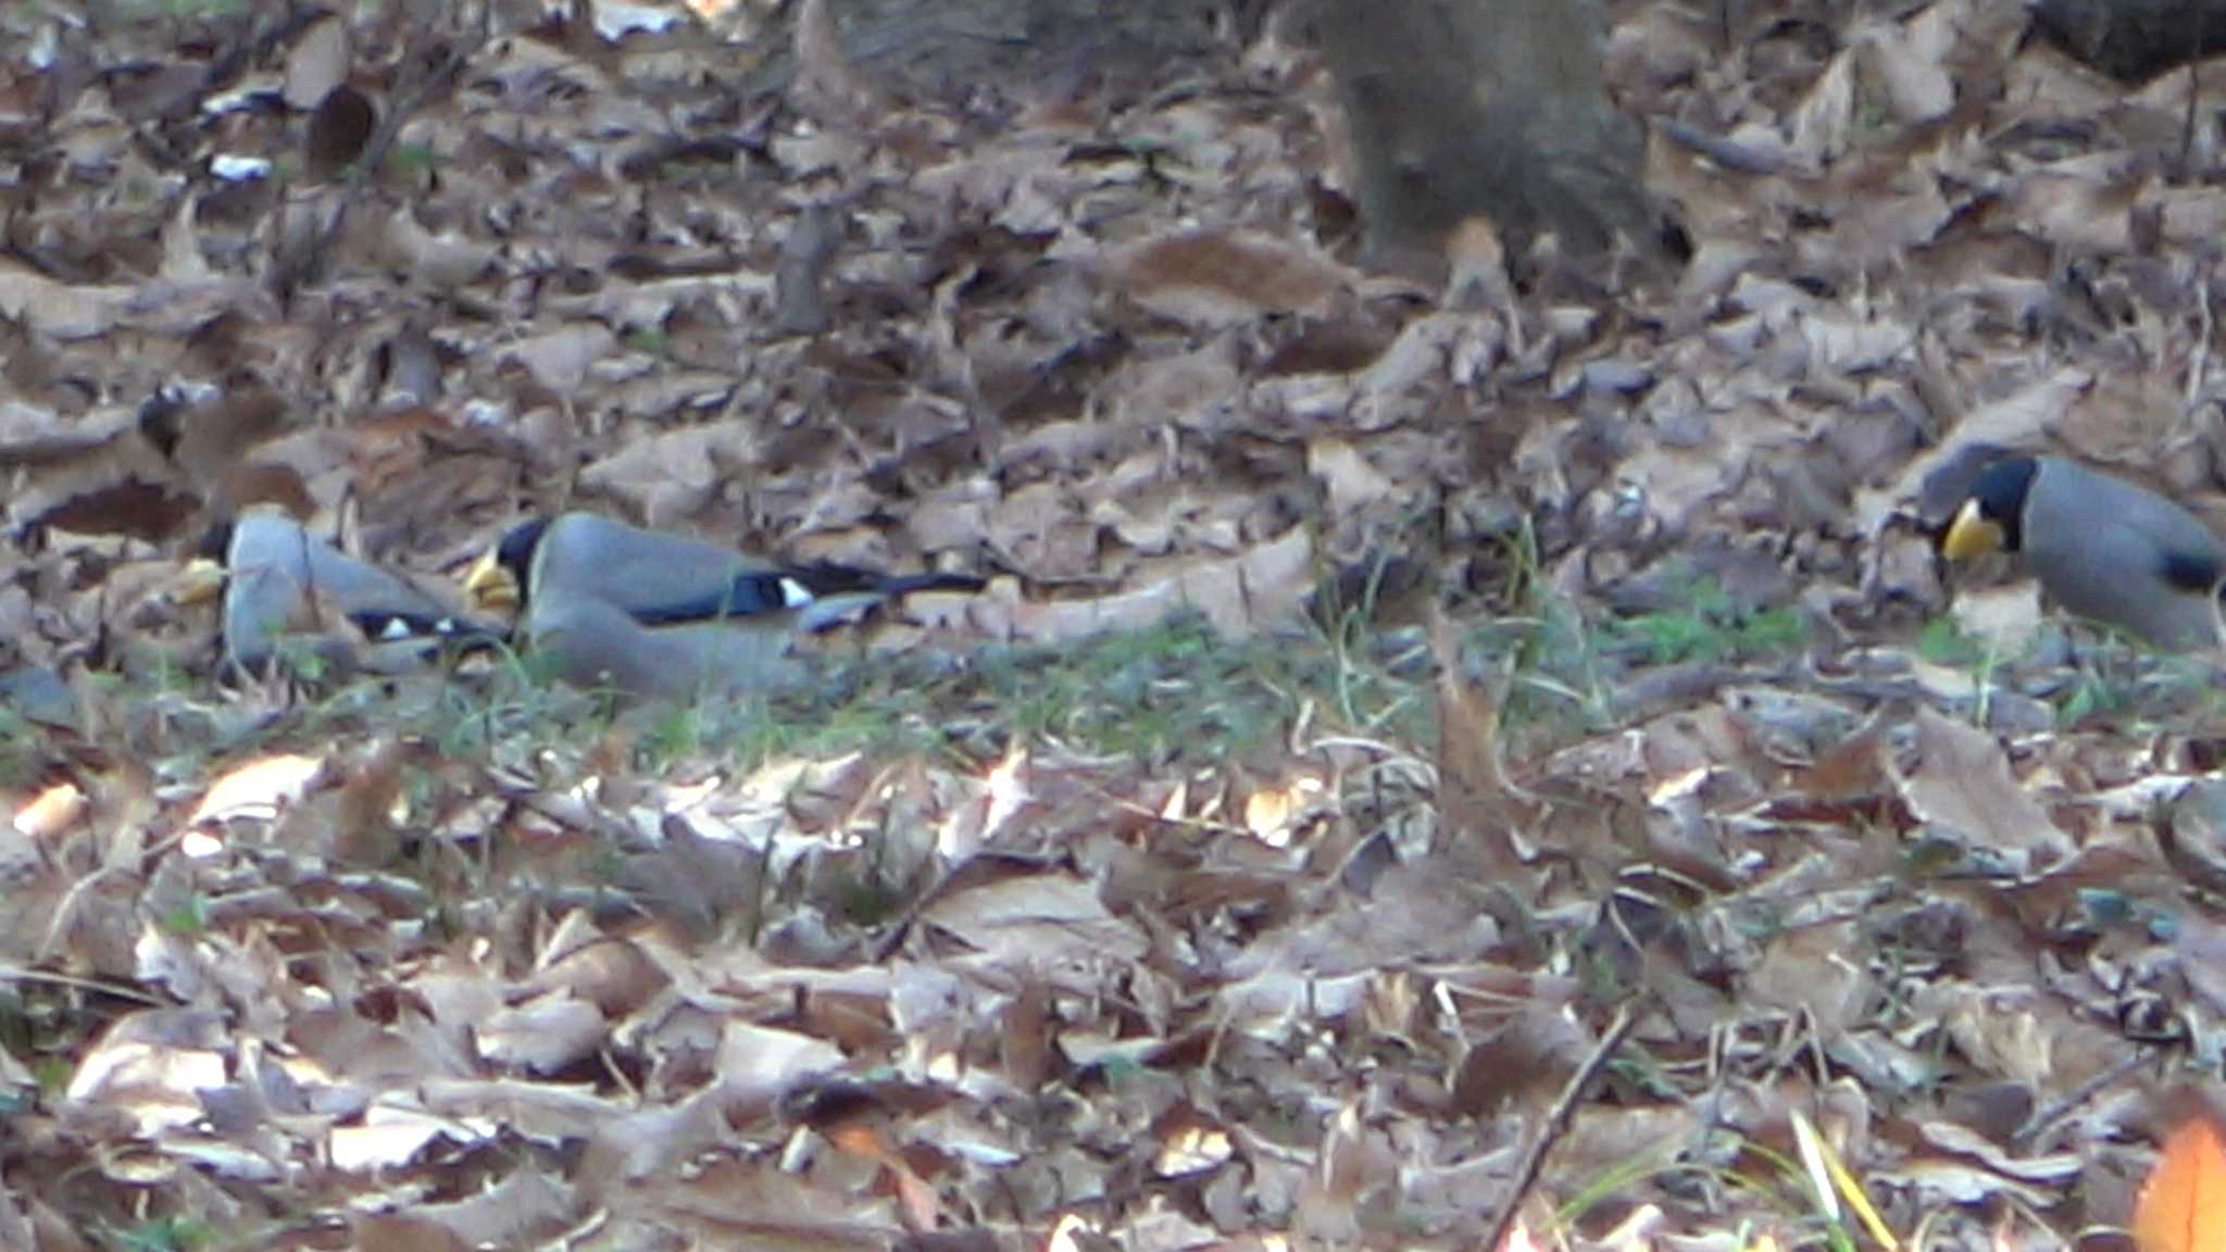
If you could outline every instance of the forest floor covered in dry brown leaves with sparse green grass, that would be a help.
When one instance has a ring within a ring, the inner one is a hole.
[[[96,9],[0,11],[0,1245],[2043,1250],[2226,1107],[2215,666],[1930,544],[1979,446],[2217,510],[2190,78],[1616,2],[1692,265],[1460,307],[1273,22],[799,114],[746,16]],[[993,584],[220,684],[227,495]]]

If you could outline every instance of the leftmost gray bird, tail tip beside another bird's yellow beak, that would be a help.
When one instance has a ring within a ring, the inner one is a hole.
[[[490,646],[501,637],[283,512],[243,512],[211,530],[200,552],[174,595],[185,604],[223,595],[225,662],[234,666],[260,668],[287,648],[305,648],[343,671],[396,673],[445,646]]]

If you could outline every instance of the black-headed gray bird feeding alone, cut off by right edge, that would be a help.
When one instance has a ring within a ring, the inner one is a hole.
[[[2219,642],[2226,546],[2186,508],[2061,457],[1979,472],[1941,539],[1952,561],[2017,552],[2068,613],[2159,648]]]

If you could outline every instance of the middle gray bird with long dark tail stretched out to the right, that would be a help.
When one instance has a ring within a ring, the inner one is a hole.
[[[554,677],[628,695],[768,691],[808,671],[801,635],[915,590],[982,590],[968,575],[775,566],[592,512],[512,528],[465,575],[479,613],[512,613]]]

